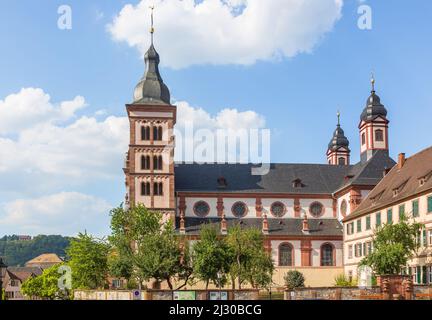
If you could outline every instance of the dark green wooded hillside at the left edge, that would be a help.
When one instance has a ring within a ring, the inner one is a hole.
[[[18,240],[17,236],[4,236],[0,238],[0,256],[8,266],[24,266],[27,261],[43,253],[56,253],[59,257],[64,257],[70,239],[58,235],[40,235],[32,240]]]

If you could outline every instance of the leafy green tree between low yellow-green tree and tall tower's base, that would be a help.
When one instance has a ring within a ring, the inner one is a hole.
[[[80,233],[71,241],[66,252],[72,269],[72,285],[75,289],[103,288],[108,277],[108,253],[110,246],[87,233]]]

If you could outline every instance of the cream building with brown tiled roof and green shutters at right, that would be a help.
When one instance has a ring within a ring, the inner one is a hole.
[[[400,154],[398,164],[344,219],[344,266],[348,276],[357,276],[360,261],[373,250],[376,228],[397,223],[402,215],[425,225],[417,238],[417,256],[405,271],[413,276],[415,284],[432,284],[432,147],[408,159]]]

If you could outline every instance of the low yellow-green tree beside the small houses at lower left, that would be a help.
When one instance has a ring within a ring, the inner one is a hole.
[[[27,279],[21,285],[21,292],[30,298],[68,300],[70,298],[69,290],[59,287],[59,280],[62,276],[59,268],[62,265],[55,265],[45,269],[40,276]]]

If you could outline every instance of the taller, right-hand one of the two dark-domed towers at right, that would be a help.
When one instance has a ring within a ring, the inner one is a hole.
[[[360,117],[361,161],[369,161],[379,150],[389,151],[387,110],[375,92],[375,79],[372,76],[372,91]]]

